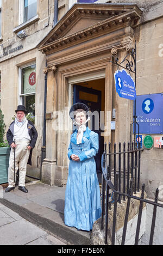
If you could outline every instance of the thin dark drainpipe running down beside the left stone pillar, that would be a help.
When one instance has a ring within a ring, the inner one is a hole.
[[[47,62],[46,62],[47,66]],[[43,143],[41,147],[41,170],[42,162],[46,157],[46,99],[47,99],[47,72],[45,74],[45,92],[44,92],[44,110],[43,110]],[[42,172],[40,172],[40,180],[42,178]]]

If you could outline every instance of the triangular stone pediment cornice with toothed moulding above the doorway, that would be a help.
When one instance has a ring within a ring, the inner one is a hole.
[[[64,48],[79,44],[80,42],[96,38],[102,34],[110,33],[127,26],[135,26],[141,17],[141,10],[136,5],[109,5],[109,7],[107,5],[106,8],[103,4],[103,9],[101,8],[101,5],[95,6],[95,4],[88,5],[89,9],[88,7],[87,9],[82,9],[82,6],[83,5],[79,5],[79,8],[78,4],[74,5],[57,26],[49,32],[46,38],[40,42],[38,46],[42,53],[50,54],[52,52],[57,52]],[[82,31],[64,36],[65,31],[68,31],[67,26],[71,28],[74,22],[77,22],[77,19],[79,19],[79,15],[78,18],[76,18],[78,13],[80,14],[80,17],[81,15],[86,15],[86,17],[87,15],[103,16],[104,20],[97,22],[95,25],[85,28]],[[110,17],[105,19],[105,15],[108,16],[108,14]]]

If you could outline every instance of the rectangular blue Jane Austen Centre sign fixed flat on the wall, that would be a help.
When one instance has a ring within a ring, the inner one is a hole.
[[[139,133],[163,134],[163,94],[137,95],[136,121]],[[136,133],[137,132],[136,125]]]

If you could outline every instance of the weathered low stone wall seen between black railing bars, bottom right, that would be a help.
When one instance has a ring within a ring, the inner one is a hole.
[[[140,197],[141,192],[137,192],[136,196]],[[136,234],[136,225],[137,225],[137,217],[139,212],[139,200],[131,199],[130,202],[130,210],[128,216],[128,225],[127,225],[127,233],[126,233],[126,241],[125,245],[134,245],[135,243],[135,234]],[[113,211],[114,211],[114,203],[111,205],[111,210],[109,210],[109,221],[108,221],[108,245],[111,245],[111,237],[112,237],[112,221],[113,221]],[[126,214],[126,206],[127,200],[123,201],[121,204],[117,204],[117,218],[116,218],[116,240],[115,245],[121,245],[122,241],[122,233],[123,233],[123,224],[124,217]],[[101,230],[101,218],[99,218],[94,224],[91,233],[90,243],[91,245],[104,245],[105,244],[105,216],[104,216],[104,229]],[[143,205],[142,211],[142,220],[140,227],[140,235],[145,233],[146,230],[146,204]]]

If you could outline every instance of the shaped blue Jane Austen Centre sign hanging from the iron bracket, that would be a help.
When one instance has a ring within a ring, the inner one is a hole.
[[[117,70],[114,74],[116,92],[120,97],[129,100],[136,99],[135,82],[126,70]]]

